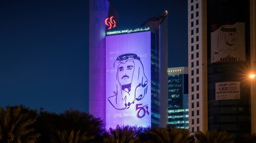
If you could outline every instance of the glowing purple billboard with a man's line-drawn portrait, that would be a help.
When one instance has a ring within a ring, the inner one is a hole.
[[[106,129],[151,125],[151,32],[106,37]]]

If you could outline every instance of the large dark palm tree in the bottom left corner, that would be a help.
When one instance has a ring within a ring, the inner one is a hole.
[[[0,142],[36,142],[40,137],[34,128],[37,111],[23,105],[0,108]]]

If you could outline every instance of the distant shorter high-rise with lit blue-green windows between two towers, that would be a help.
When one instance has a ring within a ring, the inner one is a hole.
[[[168,124],[188,129],[188,122],[188,67],[168,68]]]

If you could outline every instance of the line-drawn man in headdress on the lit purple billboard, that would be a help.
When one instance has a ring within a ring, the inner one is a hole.
[[[116,87],[113,96],[108,98],[110,104],[118,110],[128,109],[147,94],[147,77],[143,64],[136,54],[123,54],[116,58]]]

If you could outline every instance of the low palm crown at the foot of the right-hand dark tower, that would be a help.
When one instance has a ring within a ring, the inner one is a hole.
[[[228,134],[226,131],[218,132],[217,130],[212,130],[204,134],[201,131],[194,133],[195,138],[198,143],[233,143],[234,135]]]

